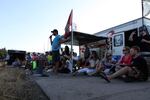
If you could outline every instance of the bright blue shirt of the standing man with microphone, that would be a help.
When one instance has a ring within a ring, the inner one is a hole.
[[[58,51],[61,47],[60,47],[60,35],[55,36],[53,42],[52,42],[52,51]]]

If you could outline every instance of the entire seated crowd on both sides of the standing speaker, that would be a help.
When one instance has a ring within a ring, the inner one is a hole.
[[[146,60],[140,55],[140,48],[133,46],[122,49],[121,58],[116,61],[113,59],[112,52],[107,51],[102,59],[94,50],[88,51],[89,55],[79,58],[75,52],[71,54],[68,46],[62,49],[60,54],[58,73],[71,73],[76,75],[99,76],[110,82],[114,78],[125,81],[147,81],[149,69]],[[31,74],[39,73],[41,76],[48,76],[44,71],[53,71],[52,52],[27,53],[25,57],[25,69]],[[23,63],[18,58],[12,63],[14,67],[20,67]]]

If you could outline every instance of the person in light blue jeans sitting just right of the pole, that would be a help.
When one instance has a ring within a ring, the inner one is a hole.
[[[88,64],[87,64],[88,63]],[[92,51],[91,56],[89,57],[88,62],[86,62],[86,66],[82,69],[77,70],[73,73],[73,76],[79,73],[85,73],[87,75],[92,75],[96,72],[96,66],[99,63],[99,58],[96,51]]]

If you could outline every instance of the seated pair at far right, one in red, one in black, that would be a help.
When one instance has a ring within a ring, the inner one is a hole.
[[[123,50],[126,50],[126,53],[129,51],[128,48]],[[100,76],[107,82],[117,77],[121,77],[127,82],[147,81],[149,69],[146,60],[140,55],[140,48],[133,46],[130,48],[130,54],[126,53],[124,51],[124,56],[116,64],[117,70],[114,73],[106,75],[101,72]]]

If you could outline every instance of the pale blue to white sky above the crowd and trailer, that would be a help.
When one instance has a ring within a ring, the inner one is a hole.
[[[62,35],[73,9],[89,34],[141,17],[141,0],[0,0],[0,48],[43,52],[54,28]]]

